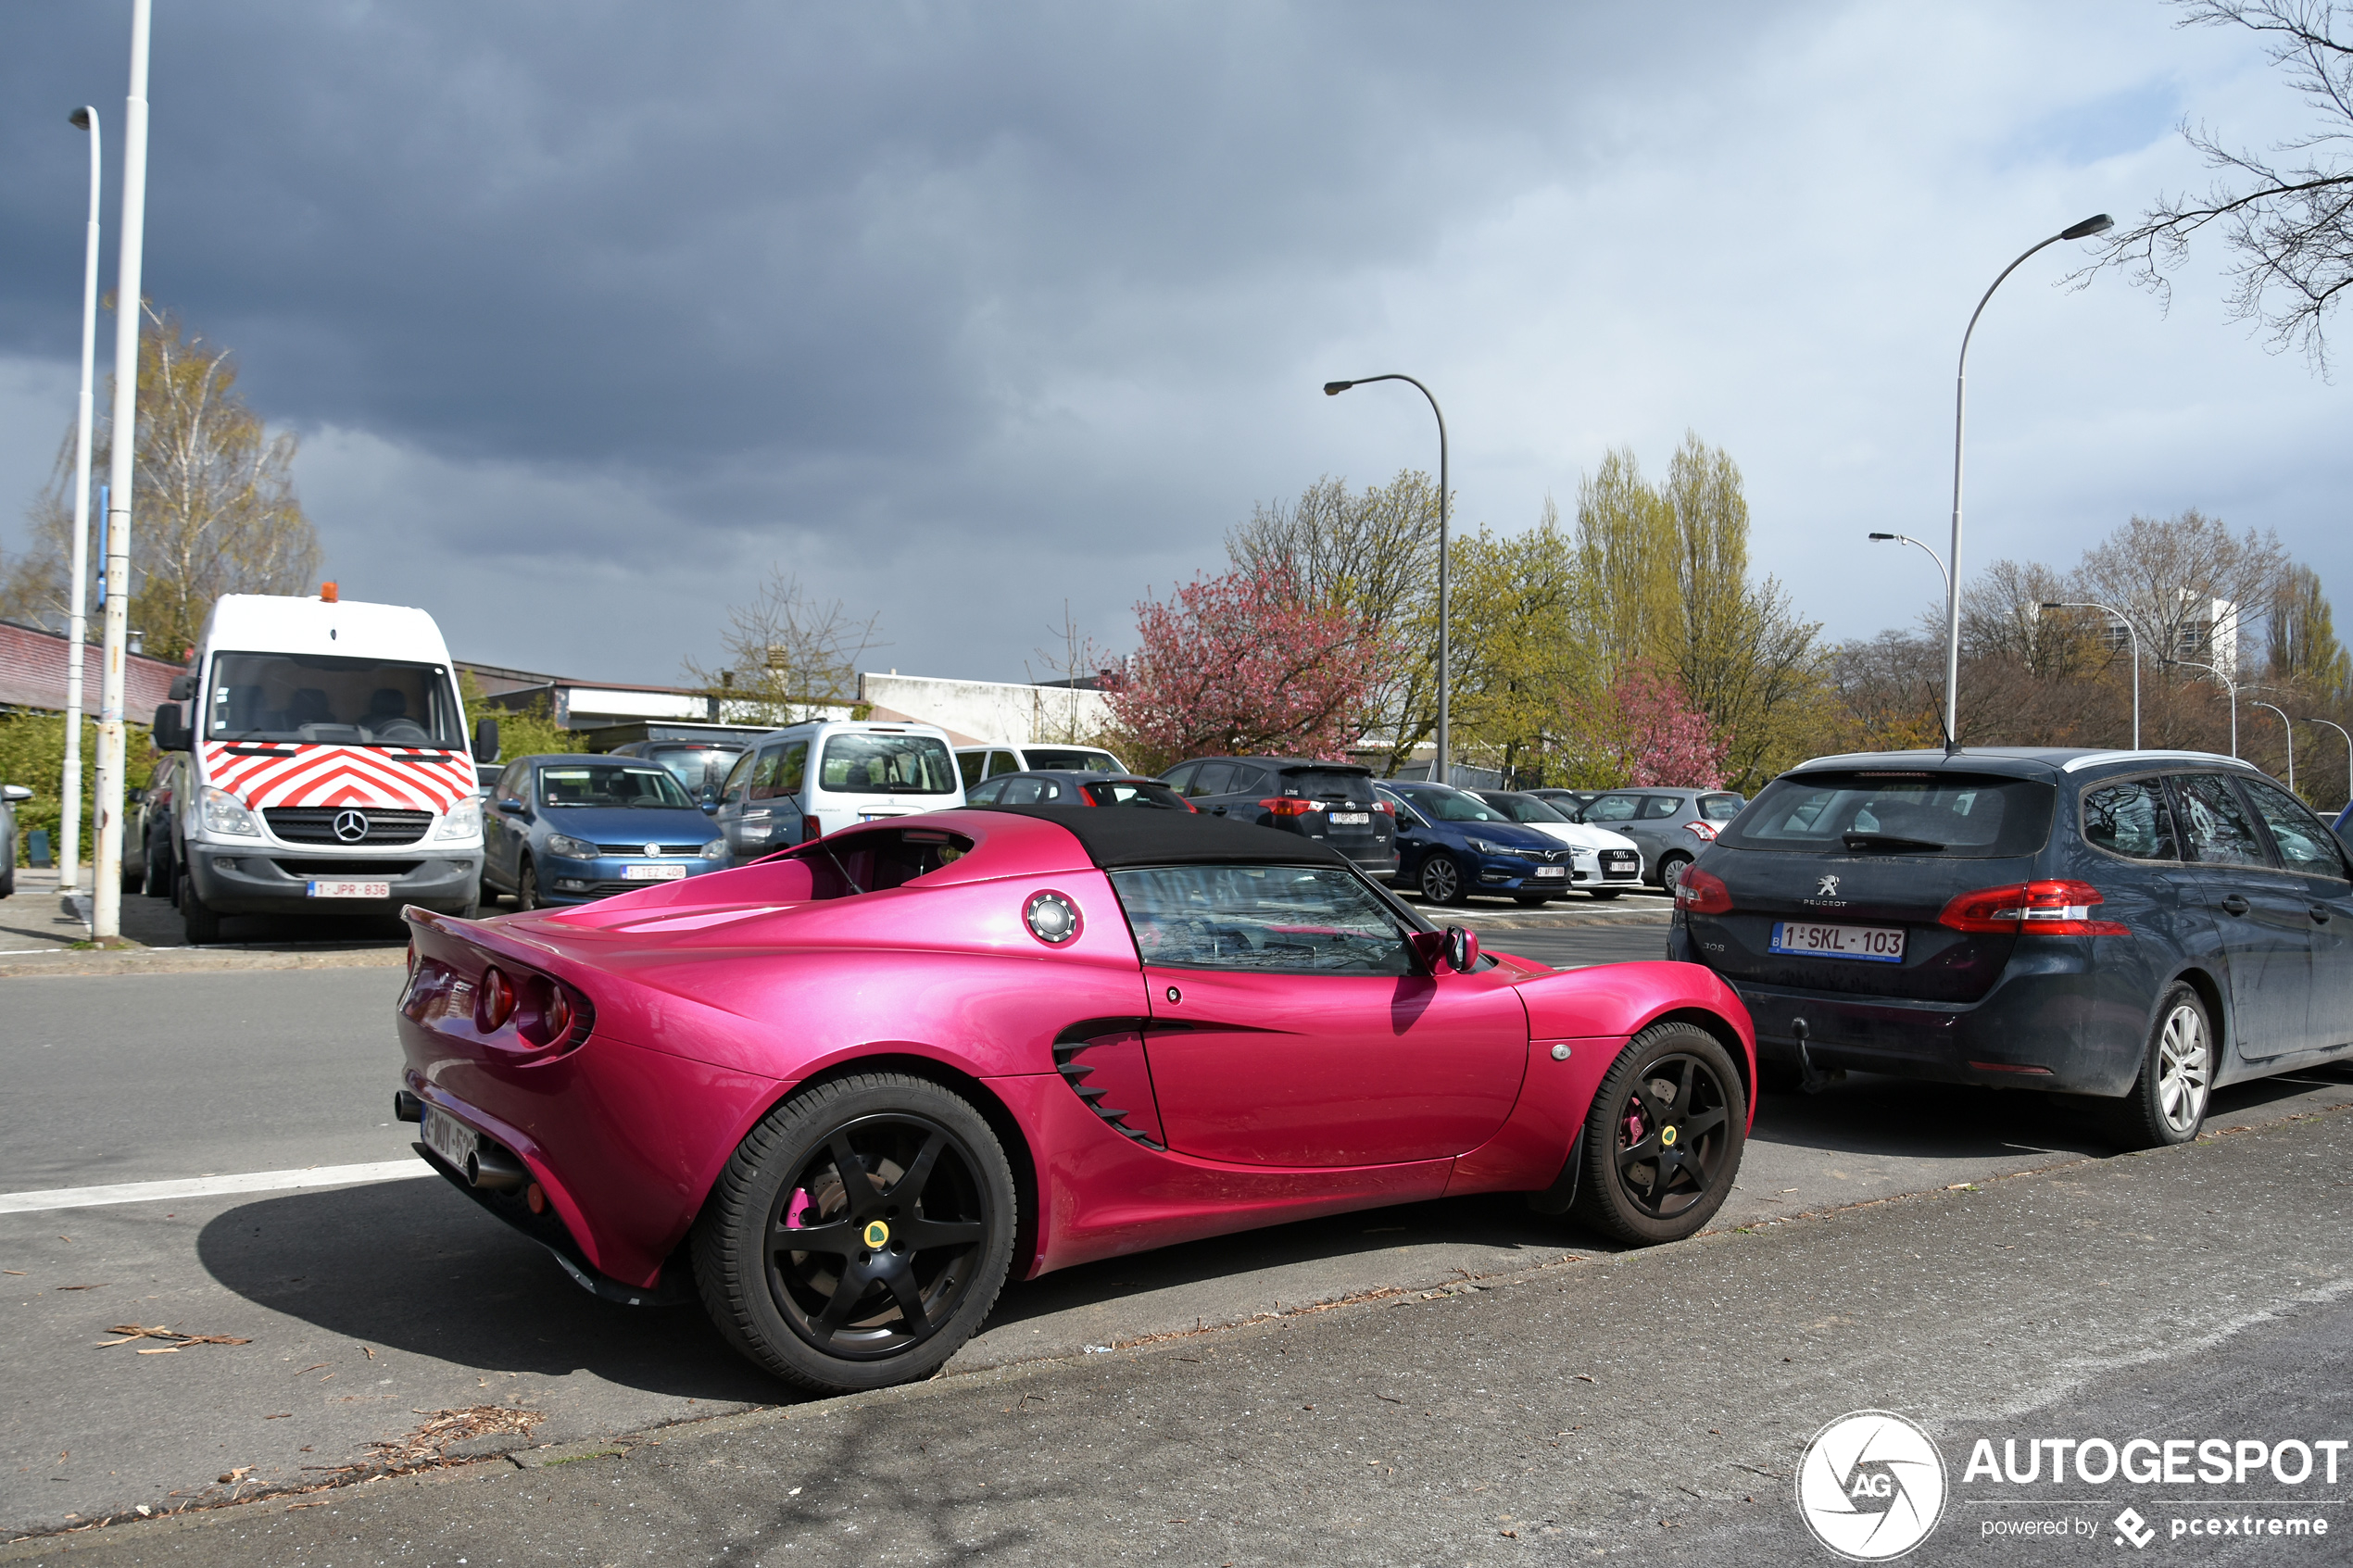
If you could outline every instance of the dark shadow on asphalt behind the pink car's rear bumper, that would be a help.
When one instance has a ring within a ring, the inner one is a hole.
[[[602,1302],[544,1246],[440,1180],[240,1204],[205,1225],[195,1251],[245,1300],[367,1345],[468,1368],[586,1371],[696,1401],[791,1399],[718,1338],[699,1305]]]

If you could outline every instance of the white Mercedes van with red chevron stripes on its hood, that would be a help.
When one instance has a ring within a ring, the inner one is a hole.
[[[499,726],[482,719],[468,748],[426,611],[346,604],[334,583],[315,599],[224,595],[153,738],[188,752],[158,882],[191,943],[219,940],[224,914],[473,917],[473,764],[499,755]]]

